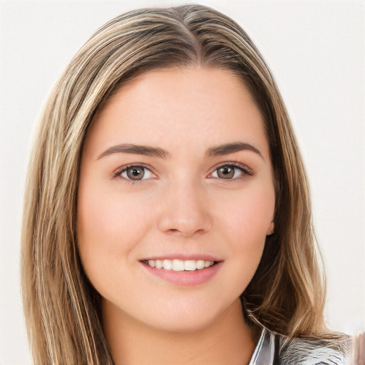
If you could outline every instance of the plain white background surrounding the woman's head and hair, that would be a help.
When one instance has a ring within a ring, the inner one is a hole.
[[[191,1],[184,1],[189,3]],[[337,331],[365,329],[364,2],[200,1],[238,21],[269,63],[312,186]],[[114,16],[181,1],[0,3],[0,364],[30,364],[19,289],[21,207],[31,135],[53,83]]]

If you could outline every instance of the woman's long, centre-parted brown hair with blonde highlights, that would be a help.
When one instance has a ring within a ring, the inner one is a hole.
[[[276,180],[275,231],[242,294],[247,318],[289,338],[324,331],[324,277],[307,178],[262,56],[235,21],[213,9],[142,9],[108,22],[78,51],[53,88],[38,127],[21,251],[24,312],[36,364],[113,364],[100,297],[78,256],[81,150],[93,116],[113,92],[140,73],[171,66],[234,72],[264,119]]]

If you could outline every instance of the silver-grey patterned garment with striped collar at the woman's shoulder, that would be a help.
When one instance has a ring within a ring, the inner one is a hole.
[[[262,329],[249,365],[347,365],[351,339],[292,339]]]

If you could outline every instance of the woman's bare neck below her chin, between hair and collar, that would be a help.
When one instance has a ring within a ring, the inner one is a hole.
[[[184,333],[149,327],[104,302],[103,327],[115,365],[244,365],[255,349],[239,299],[208,327]]]

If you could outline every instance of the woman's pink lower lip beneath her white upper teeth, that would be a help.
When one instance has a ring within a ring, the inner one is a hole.
[[[142,262],[145,269],[150,272],[150,274],[155,275],[156,277],[160,277],[167,282],[170,282],[175,285],[181,286],[193,286],[204,284],[208,282],[212,277],[217,274],[220,267],[222,267],[222,261],[217,262],[210,267],[205,267],[205,269],[194,270],[194,271],[173,271],[173,270],[165,270],[165,269],[156,269],[155,267],[150,267],[145,262]]]

